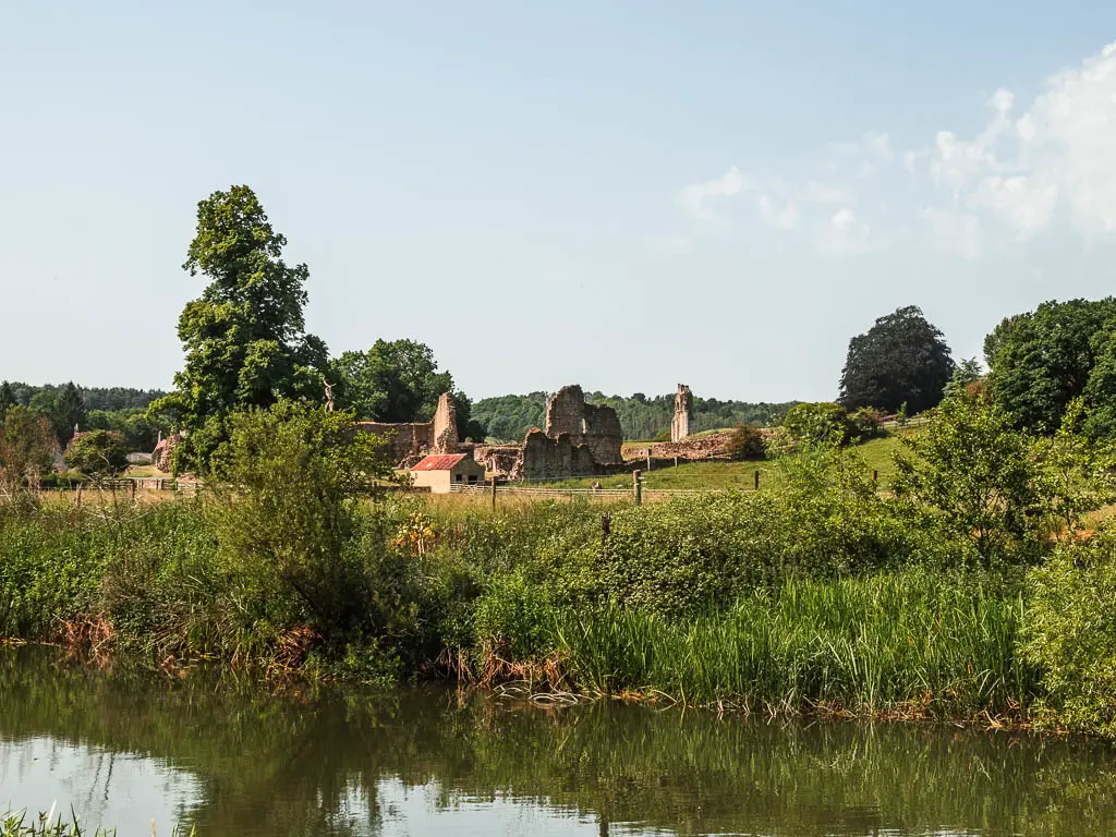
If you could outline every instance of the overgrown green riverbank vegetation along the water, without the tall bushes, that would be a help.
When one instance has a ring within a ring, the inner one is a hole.
[[[350,545],[364,618],[329,636],[266,570],[229,562],[206,516],[202,501],[9,516],[0,633],[782,712],[1020,718],[1041,694],[1017,653],[1018,574],[944,567],[879,520],[811,546],[797,527],[764,535],[779,508],[759,497],[617,507],[607,538],[587,503],[443,517],[381,503]]]

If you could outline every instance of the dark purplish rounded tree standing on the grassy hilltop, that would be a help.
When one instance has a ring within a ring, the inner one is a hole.
[[[942,401],[952,374],[953,358],[942,333],[921,308],[910,305],[848,341],[838,401],[848,410],[894,413],[906,404],[907,412],[918,413]]]

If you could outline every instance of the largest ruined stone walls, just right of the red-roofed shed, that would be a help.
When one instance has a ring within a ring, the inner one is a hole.
[[[513,480],[595,477],[623,466],[624,433],[616,411],[585,403],[574,384],[547,402],[546,427],[528,431],[521,445],[477,445],[473,456]]]

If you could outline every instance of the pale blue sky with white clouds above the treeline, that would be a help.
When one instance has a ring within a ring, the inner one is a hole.
[[[897,307],[1116,288],[1116,3],[6,0],[0,378],[170,387],[232,184],[333,354],[828,400]]]

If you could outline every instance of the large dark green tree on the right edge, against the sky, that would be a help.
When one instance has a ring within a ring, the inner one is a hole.
[[[1089,389],[1089,408],[1113,403],[1116,364],[1108,356],[1106,327],[1116,318],[1116,299],[1049,301],[1035,311],[1009,317],[984,338],[988,385],[1016,427],[1050,434],[1070,402]],[[1095,425],[1099,426],[1099,425]]]

